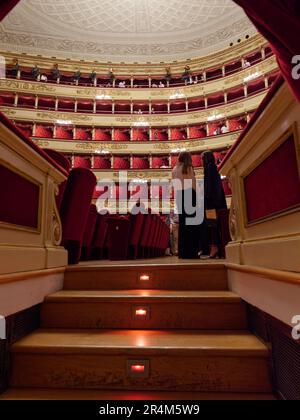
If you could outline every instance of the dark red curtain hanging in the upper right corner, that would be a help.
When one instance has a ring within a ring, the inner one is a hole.
[[[300,80],[292,77],[292,58],[300,54],[299,0],[234,0],[270,42],[281,71],[300,101]]]

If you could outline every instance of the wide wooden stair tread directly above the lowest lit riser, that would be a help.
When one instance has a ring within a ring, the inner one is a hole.
[[[12,346],[30,354],[197,354],[268,357],[246,331],[38,330]]]

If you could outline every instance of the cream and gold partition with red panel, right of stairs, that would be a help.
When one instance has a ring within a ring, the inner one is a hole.
[[[279,79],[228,153],[229,262],[300,272],[300,107]]]

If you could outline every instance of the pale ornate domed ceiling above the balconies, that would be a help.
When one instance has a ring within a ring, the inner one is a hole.
[[[172,61],[255,32],[232,0],[21,0],[2,50],[99,61]]]

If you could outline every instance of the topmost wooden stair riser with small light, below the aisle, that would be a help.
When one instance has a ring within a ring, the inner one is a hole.
[[[141,281],[147,274],[149,281]],[[95,269],[67,271],[65,290],[228,290],[225,268],[212,269]]]

